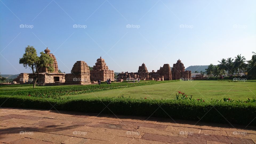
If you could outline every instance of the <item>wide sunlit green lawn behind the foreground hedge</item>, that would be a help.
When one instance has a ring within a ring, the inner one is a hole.
[[[175,98],[175,94],[181,91],[188,97],[202,98],[206,101],[213,99],[231,98],[235,100],[246,100],[256,98],[256,81],[228,82],[228,81],[178,81],[160,83],[146,86],[136,86],[124,89],[114,89],[78,95],[67,95],[63,97],[91,98],[91,97],[124,97],[131,98]]]

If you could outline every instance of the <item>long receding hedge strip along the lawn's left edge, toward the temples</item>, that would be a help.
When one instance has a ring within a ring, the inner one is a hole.
[[[178,80],[174,80],[178,81]],[[157,83],[166,83],[174,81],[152,81],[152,82],[141,82],[141,83],[115,83],[111,85],[86,85],[86,86],[67,86],[67,87],[52,87],[47,89],[28,89],[28,90],[11,90],[11,91],[0,91],[0,95],[31,95],[31,96],[41,96],[41,95],[74,95],[83,94],[94,91],[103,91],[110,89],[120,89],[125,87],[152,85]]]

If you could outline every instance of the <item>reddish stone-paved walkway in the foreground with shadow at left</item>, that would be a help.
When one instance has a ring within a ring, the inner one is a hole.
[[[256,127],[117,117],[2,107],[0,143],[256,143]]]

